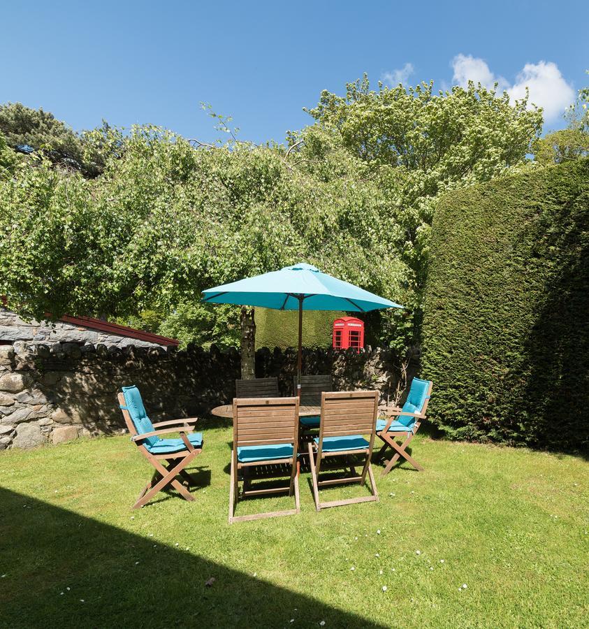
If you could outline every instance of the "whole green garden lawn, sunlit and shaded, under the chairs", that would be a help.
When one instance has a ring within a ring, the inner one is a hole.
[[[231,431],[201,429],[196,501],[133,512],[128,438],[0,454],[0,626],[587,626],[582,458],[418,435],[379,503],[317,513],[305,474],[300,515],[229,526]]]

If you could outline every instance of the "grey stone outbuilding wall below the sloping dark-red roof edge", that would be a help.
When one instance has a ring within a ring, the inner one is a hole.
[[[155,344],[136,338],[108,334],[66,321],[24,321],[15,312],[0,308],[0,342],[27,345],[54,345],[55,343],[87,343],[114,345],[115,347],[154,347]]]

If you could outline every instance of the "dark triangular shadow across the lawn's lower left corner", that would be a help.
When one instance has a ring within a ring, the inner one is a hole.
[[[236,540],[240,526],[247,525],[234,525]],[[206,531],[195,534],[206,544]],[[0,539],[3,627],[284,627],[292,618],[298,627],[321,621],[326,627],[380,627],[6,489],[0,489]],[[214,584],[205,586],[211,577]]]

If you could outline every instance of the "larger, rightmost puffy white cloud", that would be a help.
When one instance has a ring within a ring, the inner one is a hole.
[[[530,103],[544,108],[545,120],[560,116],[575,99],[574,89],[553,62],[525,64],[507,91],[512,99],[521,99],[526,87],[530,90]]]

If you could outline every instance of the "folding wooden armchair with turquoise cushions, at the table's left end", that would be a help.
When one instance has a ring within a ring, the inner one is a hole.
[[[122,393],[119,393],[117,398],[126,427],[131,433],[131,441],[155,468],[152,479],[139,494],[133,509],[145,506],[168,484],[186,500],[194,500],[194,496],[177,477],[188,484],[195,484],[194,479],[184,468],[203,451],[203,433],[190,432],[191,428],[194,428],[196,418],[172,419],[152,424],[136,386],[123,386]],[[180,439],[162,439],[159,436],[169,433],[180,433]]]

